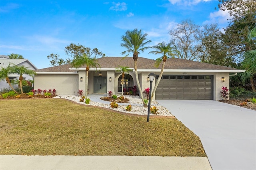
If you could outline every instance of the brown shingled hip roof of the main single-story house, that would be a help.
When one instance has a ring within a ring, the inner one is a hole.
[[[147,59],[143,57],[138,57],[137,69],[138,72],[142,71],[160,71],[162,64],[159,67],[154,67],[156,60]],[[116,70],[119,66],[126,66],[134,69],[133,57],[102,57],[97,59],[97,63],[100,65],[100,70]],[[45,69],[38,69],[36,73],[64,73],[70,72],[74,73],[78,70],[85,70],[85,65],[80,68],[72,68],[70,64],[60,65],[56,67],[48,67]],[[97,68],[99,70],[99,68]],[[93,67],[90,70],[96,70]],[[195,71],[195,72],[244,72],[240,69],[234,69],[230,67],[225,67],[221,65],[213,65],[208,63],[201,63],[197,61],[191,61],[186,59],[170,58],[166,60],[164,71]]]

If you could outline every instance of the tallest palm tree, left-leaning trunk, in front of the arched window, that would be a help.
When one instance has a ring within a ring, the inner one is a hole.
[[[148,40],[146,38],[148,34],[142,34],[142,30],[138,30],[137,28],[129,31],[127,30],[125,32],[125,35],[122,36],[122,43],[121,47],[125,47],[127,50],[123,51],[121,54],[124,55],[128,53],[125,57],[127,57],[130,53],[133,53],[133,60],[134,60],[134,71],[135,71],[135,76],[136,76],[136,81],[138,85],[138,89],[140,92],[140,97],[142,99],[144,107],[147,107],[147,104],[144,102],[143,99],[143,94],[142,90],[140,87],[140,82],[138,78],[138,72],[137,72],[137,59],[138,59],[138,54],[140,54],[140,51],[144,52],[144,50],[150,48],[150,47],[145,47],[148,43],[151,42],[151,40]]]

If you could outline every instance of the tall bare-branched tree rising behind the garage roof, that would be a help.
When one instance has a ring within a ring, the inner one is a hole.
[[[171,42],[180,51],[178,57],[181,59],[198,60],[202,45],[202,31],[200,26],[192,20],[183,20],[176,28],[170,30]]]

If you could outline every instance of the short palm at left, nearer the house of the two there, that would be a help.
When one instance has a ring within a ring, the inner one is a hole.
[[[24,94],[23,93],[23,89],[22,89],[23,75],[24,74],[27,74],[27,75],[30,75],[30,76],[36,75],[35,71],[28,69],[28,67],[25,67],[24,65],[15,65],[12,68],[11,73],[16,73],[16,74],[20,75],[19,81],[20,81],[20,91],[21,91],[21,94]]]

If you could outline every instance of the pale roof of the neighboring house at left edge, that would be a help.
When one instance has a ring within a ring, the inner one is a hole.
[[[32,64],[28,59],[9,59],[7,55],[0,55],[0,68],[6,68],[10,64],[12,65],[24,65],[24,63],[28,63],[33,67],[33,69],[37,69],[37,67]]]

